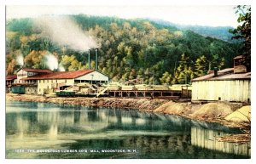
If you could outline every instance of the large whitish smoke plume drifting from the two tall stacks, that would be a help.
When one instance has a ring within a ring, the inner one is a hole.
[[[80,52],[97,48],[95,40],[86,35],[73,20],[67,16],[45,16],[35,20],[35,25],[43,30],[43,36],[49,37],[61,46],[67,46]]]

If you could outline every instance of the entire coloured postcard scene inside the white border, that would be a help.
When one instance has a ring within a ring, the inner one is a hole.
[[[250,5],[6,5],[6,159],[251,159]]]

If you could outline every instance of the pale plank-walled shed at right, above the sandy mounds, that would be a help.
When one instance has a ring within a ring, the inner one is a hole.
[[[251,72],[234,73],[236,68],[211,72],[192,80],[192,101],[251,101]]]

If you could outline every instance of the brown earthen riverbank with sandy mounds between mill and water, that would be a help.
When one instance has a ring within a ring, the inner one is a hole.
[[[216,102],[205,105],[191,102],[172,102],[167,99],[115,99],[115,98],[52,98],[38,95],[7,93],[8,101],[32,101],[65,105],[102,106],[121,109],[133,109],[163,115],[183,116],[201,122],[217,122],[226,127],[240,128],[244,133],[225,136],[219,140],[246,143],[251,140],[250,122],[232,122],[224,119],[235,110],[241,108],[241,103]]]

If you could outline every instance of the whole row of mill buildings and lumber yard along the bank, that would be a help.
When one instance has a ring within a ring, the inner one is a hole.
[[[52,96],[108,96],[114,98],[180,99],[251,103],[251,72],[242,65],[242,56],[234,58],[234,67],[209,71],[192,79],[192,85],[147,85],[143,79],[110,82],[97,70],[49,71],[21,68],[6,76],[7,93]]]

